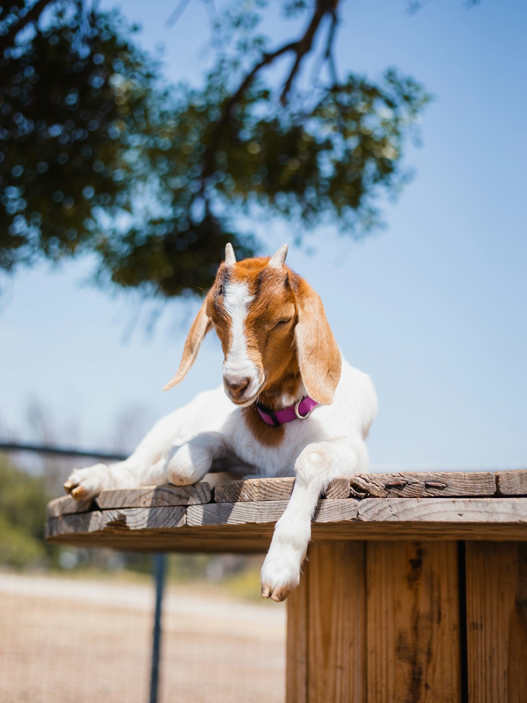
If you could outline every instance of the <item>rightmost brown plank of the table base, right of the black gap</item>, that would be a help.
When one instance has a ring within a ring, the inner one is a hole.
[[[471,703],[527,700],[527,545],[467,543]]]

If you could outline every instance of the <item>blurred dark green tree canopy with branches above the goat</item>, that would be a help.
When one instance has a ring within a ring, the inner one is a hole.
[[[375,226],[429,96],[393,69],[339,79],[339,0],[282,10],[304,28],[269,48],[266,0],[227,6],[193,87],[167,86],[116,11],[2,2],[0,269],[91,252],[100,283],[174,296],[208,287],[226,242],[259,249],[244,216],[285,218],[297,238]]]

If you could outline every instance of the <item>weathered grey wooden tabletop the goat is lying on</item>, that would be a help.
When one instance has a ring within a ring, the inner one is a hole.
[[[48,505],[46,538],[83,547],[265,552],[294,479],[104,491]],[[527,539],[527,470],[336,479],[319,501],[319,539]]]

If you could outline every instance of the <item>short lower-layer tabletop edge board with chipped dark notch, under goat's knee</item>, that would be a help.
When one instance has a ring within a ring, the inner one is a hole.
[[[171,530],[186,524],[186,508],[163,505],[158,508],[115,508],[101,510],[101,530]]]

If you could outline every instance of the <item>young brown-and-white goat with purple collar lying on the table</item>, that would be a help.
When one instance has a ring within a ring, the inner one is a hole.
[[[246,477],[295,475],[261,569],[261,595],[276,601],[299,583],[321,492],[334,477],[367,470],[365,438],[377,413],[370,377],[341,359],[320,297],[285,265],[286,254],[284,245],[273,257],[236,262],[226,246],[164,387],[186,376],[214,327],[223,389],[160,420],[128,459],[74,469],[64,484],[82,500],[105,489],[194,484],[213,463]]]

